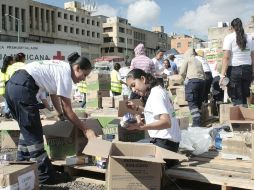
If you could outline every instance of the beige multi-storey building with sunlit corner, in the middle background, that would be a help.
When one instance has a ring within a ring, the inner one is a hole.
[[[146,55],[153,57],[158,48],[167,50],[167,34],[162,27],[154,28],[155,31],[148,31],[131,26],[127,19],[120,17],[104,18],[103,44],[101,53],[103,56],[118,55],[132,58],[134,48],[143,43],[146,48]]]

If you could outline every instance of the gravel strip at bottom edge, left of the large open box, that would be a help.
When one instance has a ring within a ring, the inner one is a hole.
[[[42,185],[40,190],[69,190],[69,189],[79,189],[79,190],[105,190],[104,185],[96,185],[92,183],[84,183],[81,181],[73,181],[68,183],[61,183],[58,185]]]

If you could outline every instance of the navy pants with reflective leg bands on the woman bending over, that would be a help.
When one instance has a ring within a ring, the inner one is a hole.
[[[35,161],[40,183],[46,182],[54,172],[44,149],[43,132],[36,94],[39,87],[25,71],[17,71],[6,86],[6,101],[13,118],[20,127],[18,161]]]

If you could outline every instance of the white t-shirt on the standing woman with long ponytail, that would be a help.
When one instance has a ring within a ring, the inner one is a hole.
[[[251,65],[251,52],[254,51],[254,44],[252,41],[252,36],[246,34],[247,43],[246,49],[241,50],[236,43],[236,33],[233,32],[228,34],[224,38],[223,50],[231,51],[231,62],[230,66],[240,66],[240,65]]]

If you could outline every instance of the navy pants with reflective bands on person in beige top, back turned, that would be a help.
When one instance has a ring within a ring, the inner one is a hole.
[[[205,81],[201,79],[190,79],[185,85],[185,100],[192,116],[192,126],[201,126],[201,106],[204,100]]]

